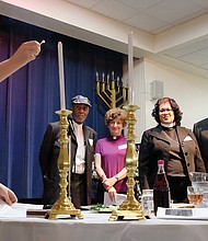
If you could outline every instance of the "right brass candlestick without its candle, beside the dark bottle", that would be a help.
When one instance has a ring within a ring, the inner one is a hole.
[[[129,104],[124,106],[124,108],[128,112],[127,124],[128,124],[128,133],[126,135],[127,138],[127,152],[125,165],[127,169],[127,198],[122,203],[117,210],[112,211],[109,217],[111,221],[123,219],[124,217],[137,217],[137,219],[143,219],[143,210],[140,202],[135,198],[135,176],[136,170],[138,167],[138,156],[135,147],[135,124],[137,122],[135,112],[139,108],[138,105]]]

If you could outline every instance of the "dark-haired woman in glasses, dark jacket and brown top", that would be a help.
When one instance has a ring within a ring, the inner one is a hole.
[[[139,179],[141,190],[153,188],[158,160],[164,160],[174,203],[187,202],[190,172],[205,172],[196,138],[190,129],[181,126],[182,112],[171,97],[158,100],[152,116],[158,126],[142,135],[139,151]]]

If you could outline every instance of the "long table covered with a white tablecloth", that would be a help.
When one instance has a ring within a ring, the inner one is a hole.
[[[82,211],[84,219],[0,218],[0,241],[207,241],[206,220],[118,220]]]

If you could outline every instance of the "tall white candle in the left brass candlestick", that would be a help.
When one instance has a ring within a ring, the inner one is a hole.
[[[62,43],[61,42],[58,42],[58,67],[59,67],[60,108],[66,110],[63,57],[62,57]]]

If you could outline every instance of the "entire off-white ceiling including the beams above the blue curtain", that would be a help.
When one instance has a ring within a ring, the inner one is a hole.
[[[0,14],[208,78],[208,0],[1,0]]]

